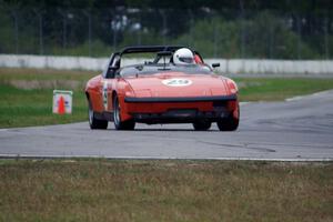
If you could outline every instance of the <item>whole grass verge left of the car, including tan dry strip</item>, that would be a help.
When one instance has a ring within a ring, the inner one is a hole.
[[[87,120],[83,93],[98,72],[0,69],[0,128],[59,124]],[[53,90],[73,91],[73,113],[52,113]]]

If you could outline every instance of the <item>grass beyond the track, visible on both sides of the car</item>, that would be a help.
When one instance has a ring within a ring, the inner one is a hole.
[[[78,122],[87,120],[83,93],[88,71],[0,69],[0,128]],[[274,101],[333,89],[333,79],[238,78],[241,101]],[[54,89],[72,90],[73,113],[52,114]]]

